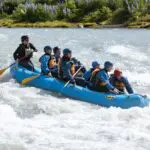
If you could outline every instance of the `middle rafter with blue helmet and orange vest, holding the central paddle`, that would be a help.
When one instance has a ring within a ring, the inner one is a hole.
[[[85,87],[86,82],[84,78],[73,77],[73,75],[76,73],[76,70],[71,58],[72,51],[69,48],[65,48],[63,50],[63,56],[59,62],[59,77],[65,82],[70,81],[71,84],[77,84]]]

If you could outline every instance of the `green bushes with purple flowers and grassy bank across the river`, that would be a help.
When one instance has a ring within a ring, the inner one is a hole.
[[[150,27],[150,0],[1,0],[0,26]]]

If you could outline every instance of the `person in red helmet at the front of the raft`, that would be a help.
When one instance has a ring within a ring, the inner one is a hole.
[[[122,71],[120,69],[115,69],[114,74],[110,77],[110,82],[121,94],[125,93],[125,89],[129,94],[133,93],[133,89],[128,79],[122,75]]]

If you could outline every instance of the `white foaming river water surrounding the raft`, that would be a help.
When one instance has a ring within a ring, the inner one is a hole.
[[[88,68],[93,60],[120,67],[150,96],[150,30],[0,28],[0,68],[13,62],[20,36],[39,52],[69,47]],[[21,87],[7,71],[0,78],[0,150],[149,150],[150,108],[103,108],[34,87]]]

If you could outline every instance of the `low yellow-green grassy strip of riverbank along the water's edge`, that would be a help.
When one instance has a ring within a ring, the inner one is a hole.
[[[46,22],[17,22],[12,19],[0,19],[0,27],[16,28],[150,28],[149,21],[136,21],[126,24],[97,24],[97,23],[70,23],[65,21]]]

